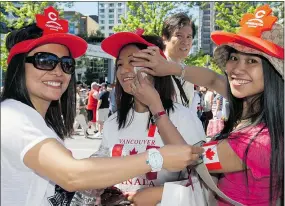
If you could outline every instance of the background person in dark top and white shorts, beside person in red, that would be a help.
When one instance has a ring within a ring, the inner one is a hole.
[[[102,83],[97,104],[97,114],[98,114],[97,122],[99,125],[98,136],[102,135],[104,122],[108,119],[109,104],[110,104],[109,97],[110,97],[110,92],[107,90],[107,84]]]

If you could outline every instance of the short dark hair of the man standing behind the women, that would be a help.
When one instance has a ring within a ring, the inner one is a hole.
[[[196,35],[196,27],[191,18],[185,13],[178,13],[168,17],[162,26],[162,36],[166,37],[167,40],[171,38],[174,31],[181,29],[184,26],[191,26],[192,28],[192,38],[194,39]]]

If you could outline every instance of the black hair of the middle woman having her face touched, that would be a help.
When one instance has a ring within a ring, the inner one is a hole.
[[[161,50],[163,50],[163,41],[160,37],[158,36],[152,36],[152,35],[143,35],[142,38],[144,38],[146,41],[158,46]],[[138,47],[140,50],[146,49],[147,45],[145,44],[140,44],[140,43],[130,43],[124,45],[121,49],[124,49],[128,45],[135,45]],[[118,57],[120,56],[120,52]],[[118,59],[118,58],[117,58]],[[117,73],[117,61],[115,65],[115,74]],[[170,110],[174,110],[174,105],[173,105],[173,97],[175,95],[175,90],[174,86],[171,80],[171,76],[165,76],[165,77],[154,77],[154,88],[157,90],[157,92],[160,95],[162,104],[164,109],[167,111],[169,114]],[[127,123],[127,117],[129,111],[134,107],[134,98],[132,95],[126,93],[118,78],[116,81],[116,103],[117,103],[117,123],[118,123],[118,129],[125,128],[126,126],[129,126],[133,120],[134,116],[134,110],[132,113],[131,118],[129,119],[129,122]],[[151,118],[151,114],[150,114]],[[146,127],[148,127],[149,122],[146,123]]]

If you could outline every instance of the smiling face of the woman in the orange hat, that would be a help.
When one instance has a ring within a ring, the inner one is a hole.
[[[262,59],[256,55],[231,53],[226,73],[231,92],[237,98],[252,97],[264,90]]]

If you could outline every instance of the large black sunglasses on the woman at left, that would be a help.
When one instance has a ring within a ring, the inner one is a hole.
[[[60,63],[61,69],[66,74],[73,74],[75,71],[75,60],[70,56],[59,58],[49,52],[38,52],[33,56],[26,57],[26,63],[32,63],[35,68],[45,71],[52,71]]]

